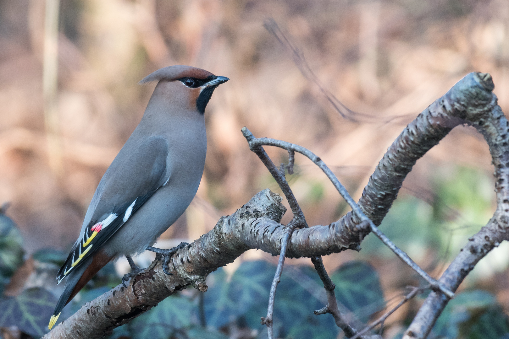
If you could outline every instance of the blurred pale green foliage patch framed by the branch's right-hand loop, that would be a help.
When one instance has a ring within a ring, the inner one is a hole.
[[[449,175],[436,175],[433,186],[433,193],[412,187],[413,196],[397,199],[380,225],[415,260],[428,249],[438,252],[442,261],[456,256],[493,214],[493,183],[482,172],[457,167]],[[361,246],[365,254],[393,255],[372,233]]]

